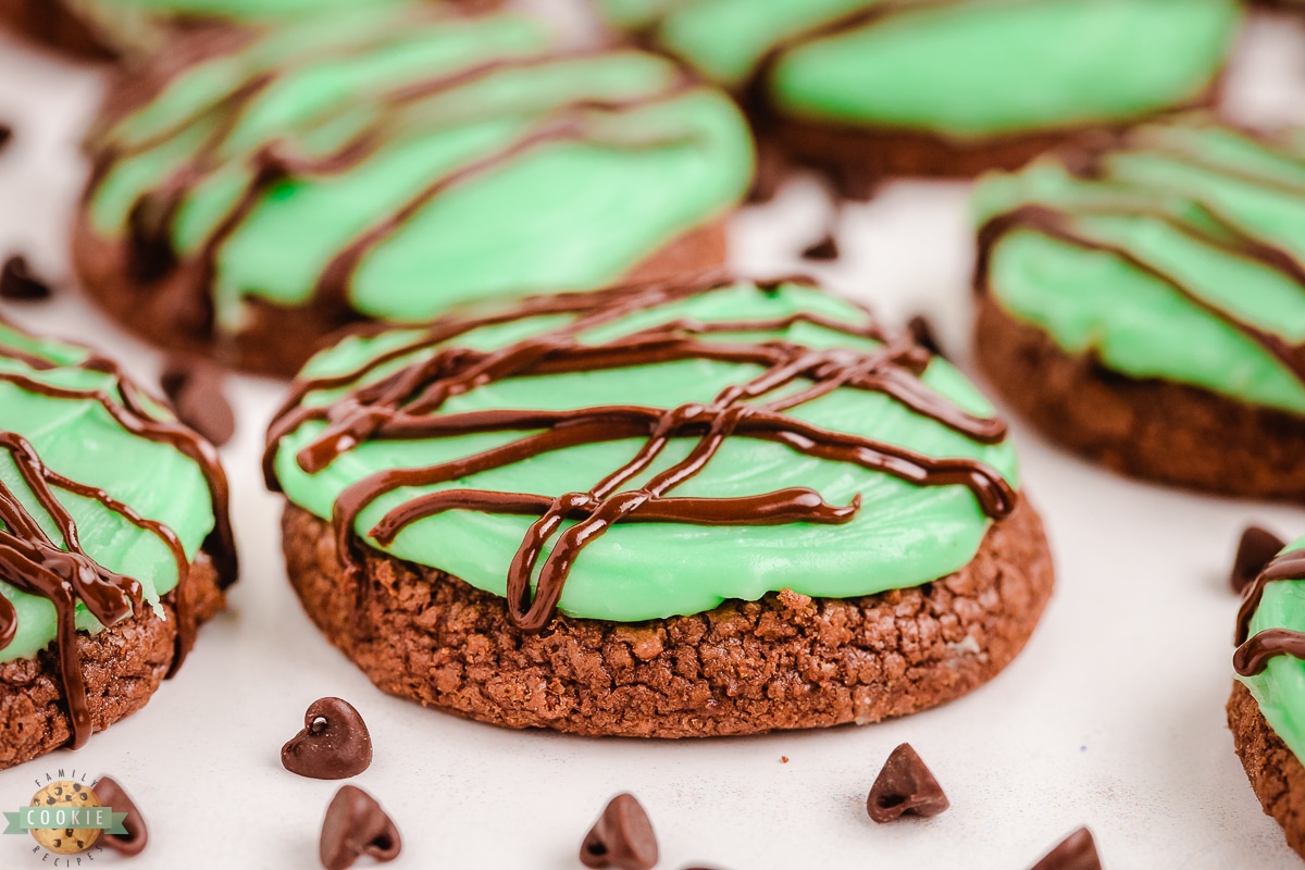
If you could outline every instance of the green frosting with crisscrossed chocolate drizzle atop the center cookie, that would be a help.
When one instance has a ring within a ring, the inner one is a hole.
[[[720,278],[347,338],[265,471],[354,566],[365,544],[445,570],[538,629],[945,577],[1015,507],[1005,433],[864,309]]]

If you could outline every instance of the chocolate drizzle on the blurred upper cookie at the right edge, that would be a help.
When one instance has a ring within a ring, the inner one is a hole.
[[[1228,129],[1231,130],[1232,128]],[[1274,142],[1268,137],[1253,136],[1248,130],[1236,132],[1248,138],[1254,138],[1259,145],[1266,147],[1274,146]],[[992,290],[990,270],[993,252],[1002,239],[1022,230],[1037,232],[1083,250],[1111,254],[1126,262],[1137,271],[1159,280],[1193,307],[1223,321],[1262,347],[1278,359],[1298,381],[1305,383],[1305,346],[1293,344],[1282,335],[1238,317],[1236,312],[1201,295],[1182,279],[1167,273],[1156,263],[1148,262],[1142,254],[1129,250],[1124,245],[1096,239],[1090,230],[1082,226],[1082,219],[1091,219],[1094,217],[1139,217],[1159,220],[1165,223],[1171,230],[1181,232],[1203,245],[1271,269],[1305,290],[1305,263],[1301,263],[1288,250],[1248,233],[1235,220],[1221,214],[1211,202],[1195,197],[1191,198],[1189,205],[1201,218],[1201,222],[1197,223],[1188,215],[1180,217],[1174,211],[1163,210],[1160,206],[1154,205],[1161,200],[1161,192],[1137,187],[1128,179],[1114,179],[1111,176],[1111,154],[1131,150],[1154,153],[1168,159],[1180,160],[1195,168],[1259,185],[1266,190],[1280,190],[1285,185],[1285,183],[1270,180],[1253,172],[1238,172],[1231,167],[1210,163],[1186,149],[1165,146],[1161,142],[1148,143],[1146,129],[1087,142],[1081,150],[1069,151],[1060,158],[1066,171],[1084,180],[1107,181],[1111,185],[1122,187],[1126,192],[1121,193],[1118,201],[1113,203],[1103,201],[1096,202],[1091,207],[1075,206],[1073,210],[1061,210],[1044,203],[1021,205],[988,219],[980,227],[977,235],[979,256],[974,282],[976,292],[985,293]]]

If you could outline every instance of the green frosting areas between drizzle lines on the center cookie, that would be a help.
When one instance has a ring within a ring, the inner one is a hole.
[[[675,318],[702,322],[783,318],[799,312],[821,313],[842,322],[864,323],[863,309],[801,286],[784,286],[775,295],[740,284],[679,300],[609,322],[581,340],[609,340]],[[492,350],[564,325],[560,316],[482,327],[457,339],[461,347]],[[411,340],[411,331],[377,338],[350,338],[320,353],[301,377],[321,377],[358,369],[367,360]],[[748,342],[784,339],[806,347],[874,347],[826,327],[799,322],[776,333],[752,333]],[[423,355],[438,348],[423,351]],[[410,363],[403,357],[399,363]],[[393,372],[380,368],[375,377]],[[442,412],[474,410],[574,410],[602,404],[673,408],[688,402],[711,402],[724,386],[741,383],[762,369],[719,360],[696,359],[622,369],[532,376],[497,381],[449,399]],[[983,395],[951,365],[934,359],[923,382],[960,408],[990,415]],[[304,403],[318,407],[339,391],[309,393]],[[1011,484],[1015,453],[1009,440],[983,445],[910,411],[881,393],[838,389],[788,411],[795,417],[835,432],[852,433],[907,446],[929,457],[979,459]],[[423,467],[480,453],[519,437],[519,433],[480,433],[416,441],[365,441],[317,473],[307,473],[296,454],[322,430],[309,421],[275,445],[274,471],[291,502],[330,518],[341,492],[372,473]],[[365,537],[388,510],[423,492],[474,488],[556,497],[587,492],[621,467],[643,445],[642,438],[589,443],[543,454],[446,485],[408,488],[378,498],[364,510],[355,530]],[[651,473],[683,459],[697,438],[676,438],[655,467],[630,481],[642,485]],[[848,505],[861,496],[860,513],[840,526],[793,523],[783,526],[690,526],[617,523],[577,558],[566,580],[560,609],[577,617],[639,621],[710,610],[726,599],[757,600],[767,591],[792,588],[812,596],[852,597],[919,586],[964,566],[975,556],[990,520],[963,485],[916,487],[882,472],[799,454],[783,445],[753,438],[728,438],[720,453],[696,477],[675,489],[676,496],[741,497],[806,487],[830,505]],[[405,560],[438,567],[472,586],[504,593],[508,566],[531,518],[453,510],[408,526],[393,545],[380,548]]]

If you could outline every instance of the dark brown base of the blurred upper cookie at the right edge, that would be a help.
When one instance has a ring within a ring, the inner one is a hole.
[[[975,359],[1052,441],[1114,471],[1248,498],[1305,501],[1305,417],[1111,372],[981,293]]]

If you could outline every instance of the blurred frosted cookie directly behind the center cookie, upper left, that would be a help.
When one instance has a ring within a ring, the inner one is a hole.
[[[724,262],[752,142],[664,59],[416,8],[215,43],[124,80],[91,137],[77,270],[159,344],[290,376],[359,320]]]

